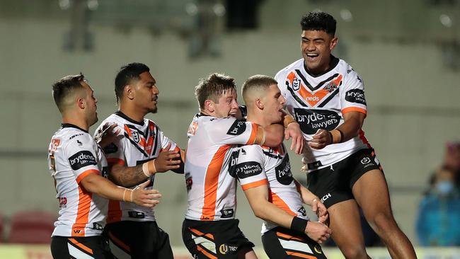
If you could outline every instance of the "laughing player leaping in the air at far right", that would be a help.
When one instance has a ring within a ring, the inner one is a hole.
[[[302,17],[302,58],[275,76],[309,142],[303,158],[308,188],[328,208],[332,238],[346,258],[367,258],[358,207],[392,258],[415,258],[393,218],[384,173],[361,129],[367,114],[362,79],[331,54],[338,42],[335,25],[328,13]]]

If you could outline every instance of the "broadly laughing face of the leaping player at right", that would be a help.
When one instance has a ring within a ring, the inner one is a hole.
[[[329,68],[330,52],[337,40],[323,30],[302,31],[300,49],[309,72],[321,74]]]

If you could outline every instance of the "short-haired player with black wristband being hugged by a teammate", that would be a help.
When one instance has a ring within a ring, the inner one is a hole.
[[[278,123],[285,100],[270,76],[251,76],[242,88],[248,122],[263,127]],[[238,178],[256,217],[264,220],[262,243],[270,258],[326,258],[319,244],[330,229],[326,207],[319,198],[294,180],[284,144],[275,148],[241,146],[230,174]],[[309,221],[302,205],[310,205],[320,222]]]

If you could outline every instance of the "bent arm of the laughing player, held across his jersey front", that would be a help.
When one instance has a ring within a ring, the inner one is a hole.
[[[314,134],[309,145],[314,149],[322,149],[330,144],[346,142],[360,133],[365,117],[365,113],[357,111],[345,113],[343,114],[344,122],[342,125],[331,131],[318,129],[318,132]]]

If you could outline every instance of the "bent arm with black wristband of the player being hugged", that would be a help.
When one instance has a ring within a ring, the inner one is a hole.
[[[268,202],[268,185],[249,188],[244,191],[244,194],[253,209],[255,217],[271,221],[286,229],[304,233],[320,244],[329,238],[331,231],[328,226],[319,222],[294,217],[271,202]]]

